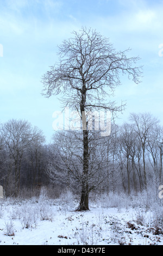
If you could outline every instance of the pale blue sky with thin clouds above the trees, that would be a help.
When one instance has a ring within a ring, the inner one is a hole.
[[[163,125],[162,0],[0,0],[0,122],[25,119],[51,141],[56,96],[41,95],[41,77],[58,61],[58,45],[82,26],[96,29],[117,50],[141,59],[143,77],[121,77],[112,100],[126,101],[129,114],[150,112]]]

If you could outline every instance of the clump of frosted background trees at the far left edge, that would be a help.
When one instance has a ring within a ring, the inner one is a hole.
[[[24,186],[47,184],[48,148],[42,131],[26,120],[1,125],[0,182],[6,196],[18,196]]]

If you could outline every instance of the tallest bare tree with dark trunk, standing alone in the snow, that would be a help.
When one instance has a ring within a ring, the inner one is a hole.
[[[116,51],[109,39],[93,29],[82,28],[59,46],[59,63],[42,77],[43,95],[61,96],[62,106],[77,109],[83,121],[83,174],[79,210],[89,210],[89,130],[86,112],[99,109],[112,113],[122,110],[109,97],[120,85],[120,74],[140,82],[141,68],[135,66],[139,57],[127,57]]]

